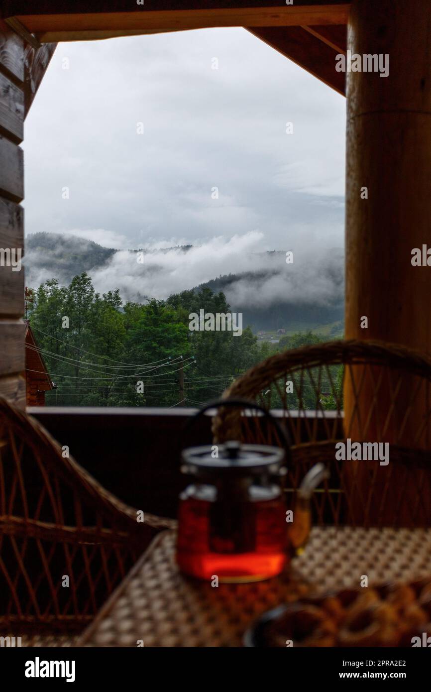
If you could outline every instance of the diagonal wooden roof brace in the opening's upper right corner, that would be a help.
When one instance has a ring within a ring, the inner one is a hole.
[[[336,72],[335,48],[320,41],[301,26],[248,28],[271,48],[282,53],[318,80],[345,94],[345,73]]]

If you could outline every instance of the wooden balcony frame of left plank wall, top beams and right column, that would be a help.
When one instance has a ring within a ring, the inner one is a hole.
[[[53,42],[243,26],[340,93],[347,85],[346,337],[430,353],[430,275],[410,263],[411,248],[431,245],[430,3],[158,0],[154,10],[152,1],[0,0],[0,10],[0,246],[24,244],[19,144]],[[359,55],[390,49],[390,78],[337,73],[334,57],[347,46]],[[24,276],[1,270],[0,394],[24,406]]]

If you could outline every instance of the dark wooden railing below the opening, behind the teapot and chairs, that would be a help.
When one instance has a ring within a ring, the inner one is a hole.
[[[178,493],[185,485],[181,450],[212,441],[210,415],[183,432],[185,421],[196,412],[193,408],[35,407],[27,412],[118,498],[159,516],[176,516]],[[297,417],[293,411],[289,415]],[[320,428],[322,419],[315,411],[306,415]],[[331,416],[336,412],[325,412]]]

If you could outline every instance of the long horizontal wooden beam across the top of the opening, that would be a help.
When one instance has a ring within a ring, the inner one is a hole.
[[[349,2],[295,0],[293,5],[267,6],[262,1],[155,1],[145,5],[94,0],[60,3],[3,0],[3,17],[17,19],[42,42],[81,40],[89,32],[188,30],[217,26],[311,26],[347,24]],[[154,9],[154,8],[157,9]],[[128,11],[125,11],[127,9]]]

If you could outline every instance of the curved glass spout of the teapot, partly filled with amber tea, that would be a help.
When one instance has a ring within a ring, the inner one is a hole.
[[[324,480],[329,478],[329,471],[324,464],[315,464],[302,479],[297,491],[295,507],[293,509],[293,522],[288,525],[289,544],[293,553],[302,552],[311,531],[311,507],[310,500],[313,490]]]

